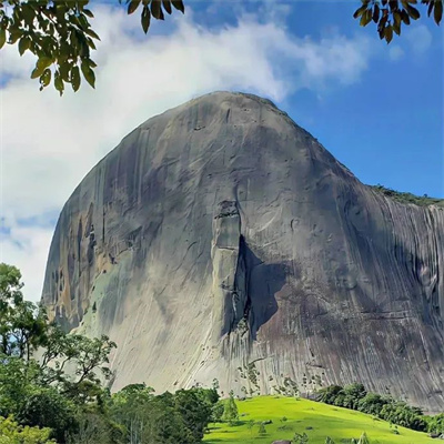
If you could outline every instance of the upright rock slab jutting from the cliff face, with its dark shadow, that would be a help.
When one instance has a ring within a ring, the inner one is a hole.
[[[263,263],[242,229],[236,201],[221,202],[213,222],[213,345],[234,332],[255,341],[276,313],[275,294],[285,283],[285,268]]]

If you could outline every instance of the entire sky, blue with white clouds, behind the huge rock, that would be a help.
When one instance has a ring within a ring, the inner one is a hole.
[[[1,50],[0,261],[22,270],[28,297],[40,297],[58,214],[88,171],[144,120],[215,90],[270,98],[364,183],[444,198],[432,20],[387,46],[352,18],[359,0],[184,2],[144,36],[117,0],[93,1],[97,89],[62,99],[38,91],[29,53]]]

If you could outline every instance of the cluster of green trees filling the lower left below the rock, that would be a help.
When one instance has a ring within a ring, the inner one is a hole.
[[[26,301],[20,271],[0,263],[1,444],[195,444],[215,389],[155,396],[144,383],[110,393],[107,336],[68,334]],[[38,351],[38,353],[36,353]]]

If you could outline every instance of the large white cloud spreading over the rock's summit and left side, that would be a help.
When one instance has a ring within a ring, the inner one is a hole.
[[[26,294],[38,299],[51,229],[23,218],[60,211],[85,173],[145,119],[213,90],[248,90],[282,101],[299,88],[321,89],[360,79],[371,57],[364,38],[339,34],[314,41],[293,37],[282,22],[248,16],[218,31],[192,13],[175,14],[168,36],[141,33],[135,18],[99,7],[101,36],[97,90],[82,85],[60,99],[29,79],[30,56],[2,49],[0,91],[1,214],[11,229],[0,239],[1,261],[19,266]],[[161,23],[163,24],[163,23]],[[19,246],[14,241],[19,241]]]

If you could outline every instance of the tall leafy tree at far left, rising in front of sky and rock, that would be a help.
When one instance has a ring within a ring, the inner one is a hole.
[[[49,427],[62,444],[78,427],[78,412],[100,405],[99,376],[109,377],[108,355],[115,344],[107,336],[64,333],[23,299],[22,287],[20,271],[0,263],[0,416]]]

